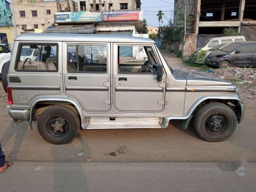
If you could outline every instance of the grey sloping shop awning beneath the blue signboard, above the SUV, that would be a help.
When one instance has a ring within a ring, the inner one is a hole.
[[[54,25],[45,29],[42,33],[86,33],[92,34],[95,31],[94,24],[90,25]]]

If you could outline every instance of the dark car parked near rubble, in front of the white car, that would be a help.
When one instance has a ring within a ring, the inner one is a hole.
[[[210,52],[206,63],[214,67],[256,67],[256,42],[233,42]]]

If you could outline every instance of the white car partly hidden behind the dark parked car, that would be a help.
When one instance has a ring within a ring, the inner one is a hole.
[[[204,42],[204,44],[197,48],[195,52],[199,50],[209,50],[215,46],[218,46],[220,44],[231,44],[231,42],[241,42],[245,41],[244,36],[220,36],[220,37],[214,37],[210,38],[207,41]]]

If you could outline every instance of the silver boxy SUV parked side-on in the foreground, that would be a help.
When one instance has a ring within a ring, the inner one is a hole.
[[[28,45],[40,48],[39,60],[20,59]],[[56,50],[56,57],[43,53],[46,47]],[[105,59],[86,63],[88,47],[99,48]],[[122,56],[138,47],[147,58],[136,52]],[[68,143],[80,128],[166,128],[178,119],[186,130],[192,117],[202,139],[223,141],[245,111],[231,82],[173,70],[154,40],[131,36],[22,34],[14,41],[7,92],[14,122],[29,121],[32,127],[37,121],[41,137],[54,144]]]

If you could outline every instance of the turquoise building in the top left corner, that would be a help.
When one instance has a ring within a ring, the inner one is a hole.
[[[0,0],[0,26],[12,25],[10,3]]]

